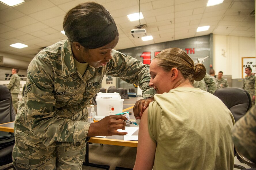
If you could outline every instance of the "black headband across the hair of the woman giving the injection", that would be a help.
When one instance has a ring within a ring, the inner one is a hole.
[[[105,29],[103,29],[103,31],[101,33],[99,33],[98,35],[95,35],[95,36],[91,36],[91,37],[86,37],[86,38],[82,38],[80,39],[78,42],[82,45],[84,43],[88,43],[88,42],[91,42],[91,41],[95,41],[95,40],[98,40],[100,39],[101,37],[104,37],[110,33],[112,33],[114,30],[117,30],[117,27],[116,27],[116,24],[113,23],[109,26],[107,26]]]

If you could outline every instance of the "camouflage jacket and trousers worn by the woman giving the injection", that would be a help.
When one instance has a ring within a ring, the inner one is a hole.
[[[86,106],[101,89],[105,74],[139,85],[144,99],[155,94],[148,86],[149,65],[116,50],[112,56],[106,66],[89,65],[83,77],[74,66],[68,40],[35,56],[15,119],[16,169],[82,169],[90,126]]]

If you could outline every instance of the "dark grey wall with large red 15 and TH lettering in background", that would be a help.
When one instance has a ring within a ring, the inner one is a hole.
[[[192,58],[192,60],[197,60],[197,58],[206,58],[202,64],[206,67],[206,72],[209,73],[210,64],[213,64],[213,56],[212,56],[212,34],[204,35],[199,37],[192,37],[187,39],[168,41],[163,43],[156,43],[151,45],[145,45],[140,47],[133,47],[118,50],[124,54],[130,55],[138,60],[140,60],[144,64],[150,64],[150,61],[155,57],[155,55],[166,49],[178,47]],[[117,85],[119,87],[129,89],[133,85],[129,85],[128,83],[123,82],[122,80],[117,80]]]

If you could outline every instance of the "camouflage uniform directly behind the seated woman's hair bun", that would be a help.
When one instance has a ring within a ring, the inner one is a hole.
[[[193,87],[199,88],[209,93],[214,93],[217,90],[217,84],[215,83],[212,76],[206,73],[204,79],[201,81],[194,81]]]

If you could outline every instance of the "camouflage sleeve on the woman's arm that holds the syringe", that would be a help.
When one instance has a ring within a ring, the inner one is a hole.
[[[57,103],[53,89],[56,75],[50,62],[45,62],[47,60],[42,61],[35,57],[28,68],[25,100],[26,122],[30,124],[30,131],[47,147],[76,145],[77,142],[86,141],[90,123],[69,119],[65,110],[56,111]],[[68,112],[73,113],[74,110],[70,107]]]

